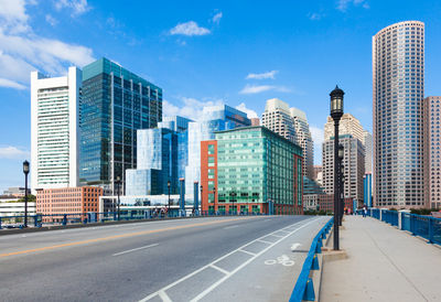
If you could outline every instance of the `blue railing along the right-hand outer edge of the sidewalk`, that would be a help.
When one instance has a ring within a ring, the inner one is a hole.
[[[357,214],[362,213],[363,211],[357,211]],[[441,245],[441,218],[379,208],[369,208],[367,216],[420,236],[428,244]]]

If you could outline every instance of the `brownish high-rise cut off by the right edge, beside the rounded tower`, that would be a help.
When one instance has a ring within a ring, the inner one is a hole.
[[[424,206],[441,208],[441,97],[424,98],[423,108]]]

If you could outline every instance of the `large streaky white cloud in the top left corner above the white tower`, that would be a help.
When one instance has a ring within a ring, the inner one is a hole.
[[[10,8],[10,4],[4,4],[10,2],[15,6],[20,3],[21,7]],[[30,3],[0,0],[0,78],[3,87],[22,89],[29,85],[31,71],[41,69],[51,75],[60,75],[65,74],[69,65],[83,67],[94,61],[88,47],[35,34],[25,13]]]

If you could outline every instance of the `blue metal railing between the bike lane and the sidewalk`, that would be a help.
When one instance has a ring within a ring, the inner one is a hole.
[[[322,240],[326,238],[333,223],[334,218],[331,218],[312,240],[310,251],[303,262],[302,271],[300,272],[295,287],[291,293],[290,302],[315,300],[314,285],[310,278],[310,271],[319,269],[319,259],[316,255],[322,252]]]

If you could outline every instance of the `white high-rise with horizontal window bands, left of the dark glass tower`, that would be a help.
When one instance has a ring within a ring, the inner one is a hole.
[[[82,72],[67,76],[31,73],[31,187],[78,185]]]

